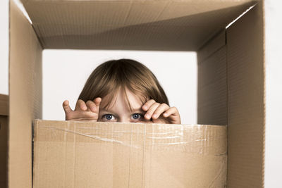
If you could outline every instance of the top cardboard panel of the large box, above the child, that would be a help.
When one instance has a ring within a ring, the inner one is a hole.
[[[196,51],[255,1],[30,0],[23,4],[44,49]]]

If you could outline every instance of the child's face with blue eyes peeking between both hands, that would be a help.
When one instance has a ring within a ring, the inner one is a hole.
[[[121,90],[116,96],[116,102],[109,106],[109,108],[104,108],[106,104],[109,104],[112,99],[107,99],[105,96],[102,99],[99,109],[99,119],[98,121],[105,122],[122,122],[122,123],[145,123],[150,122],[145,120],[145,111],[142,111],[142,101],[128,89],[126,89],[126,94],[128,96],[128,101],[130,102],[132,111],[128,108],[127,101]]]

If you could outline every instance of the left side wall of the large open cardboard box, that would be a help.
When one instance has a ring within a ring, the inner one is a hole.
[[[8,187],[31,187],[31,123],[41,118],[42,47],[10,1]]]

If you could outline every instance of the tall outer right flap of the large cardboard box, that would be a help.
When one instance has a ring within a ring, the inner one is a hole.
[[[228,187],[264,186],[262,3],[228,27]]]

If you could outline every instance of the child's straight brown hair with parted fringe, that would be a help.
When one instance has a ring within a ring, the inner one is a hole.
[[[142,103],[154,99],[160,104],[168,104],[164,89],[159,84],[157,77],[145,65],[131,59],[106,61],[95,68],[88,77],[78,99],[86,102],[93,101],[97,97],[103,99],[107,95],[109,99],[114,99],[119,89],[125,94],[130,109],[125,89],[137,94]]]

